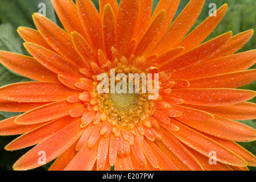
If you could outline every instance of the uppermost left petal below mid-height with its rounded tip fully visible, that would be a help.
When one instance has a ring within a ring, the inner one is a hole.
[[[20,125],[33,125],[43,123],[53,119],[61,118],[69,114],[69,111],[76,107],[84,106],[81,102],[70,103],[67,101],[54,102],[44,105],[27,113],[20,115],[15,122]]]

